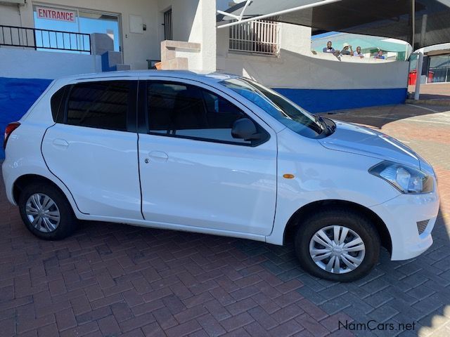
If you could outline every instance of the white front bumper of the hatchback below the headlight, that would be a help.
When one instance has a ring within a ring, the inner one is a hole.
[[[435,182],[436,186],[436,182]],[[401,194],[371,207],[384,221],[392,241],[392,260],[408,260],[426,251],[433,243],[431,231],[439,213],[439,193]],[[418,222],[429,220],[419,234]]]

